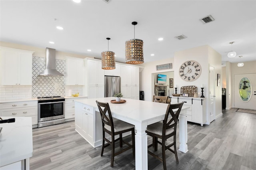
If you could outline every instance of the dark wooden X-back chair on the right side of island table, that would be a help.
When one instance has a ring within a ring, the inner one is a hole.
[[[152,144],[148,145],[148,148],[153,146],[154,151],[157,151],[158,143],[162,145],[162,158],[160,158],[153,152],[150,152],[149,150],[148,150],[148,154],[154,156],[155,158],[163,162],[164,170],[166,170],[166,156],[165,156],[166,150],[170,150],[172,153],[174,153],[176,158],[176,163],[177,164],[179,163],[178,154],[176,150],[176,129],[177,129],[178,117],[180,115],[182,105],[183,105],[183,102],[177,103],[174,105],[168,104],[164,121],[157,122],[152,125],[148,125],[148,128],[146,130],[146,133],[149,136],[152,136],[154,139]],[[174,112],[173,111],[174,109],[178,109],[178,110]],[[168,146],[166,146],[165,145],[166,140],[172,136],[173,136],[173,142]],[[162,142],[158,141],[158,138],[162,139]],[[172,146],[174,146],[173,149],[170,148]]]

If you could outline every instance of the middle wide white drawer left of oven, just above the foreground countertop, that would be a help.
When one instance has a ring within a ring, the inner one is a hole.
[[[2,109],[1,116],[32,116],[37,115],[37,107],[24,107],[15,109]]]

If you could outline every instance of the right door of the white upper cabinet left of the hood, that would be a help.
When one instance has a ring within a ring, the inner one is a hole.
[[[19,53],[18,84],[32,85],[32,55]]]

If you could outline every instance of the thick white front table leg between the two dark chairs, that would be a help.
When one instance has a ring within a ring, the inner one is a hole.
[[[148,169],[148,137],[145,132],[147,125],[135,125],[135,169]]]

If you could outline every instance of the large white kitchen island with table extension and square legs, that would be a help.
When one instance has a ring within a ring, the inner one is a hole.
[[[135,168],[136,170],[148,169],[148,140],[145,132],[148,125],[162,121],[164,119],[168,104],[156,103],[151,101],[140,101],[134,99],[123,99],[126,103],[114,104],[111,100],[115,100],[115,97],[97,98],[97,99],[77,99],[75,100],[75,124],[76,130],[84,137],[88,138],[88,142],[92,146],[96,143],[102,143],[102,138],[99,140],[99,136],[102,136],[100,129],[102,128],[101,120],[99,119],[100,113],[96,100],[104,103],[109,103],[112,117],[120,119],[135,125],[137,130],[135,135]],[[81,109],[84,111],[84,119],[81,115]],[[181,152],[187,152],[187,121],[186,121],[186,109],[188,107],[182,107],[182,111],[179,117],[180,125],[180,148]],[[84,121],[84,124],[81,123]],[[93,122],[92,122],[93,121]],[[85,123],[91,126],[86,125]],[[82,128],[81,128],[82,127]],[[83,128],[84,127],[84,128]],[[82,130],[80,130],[80,128]],[[89,130],[88,128],[93,128]],[[102,130],[101,130],[102,133]]]

